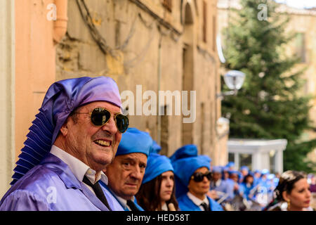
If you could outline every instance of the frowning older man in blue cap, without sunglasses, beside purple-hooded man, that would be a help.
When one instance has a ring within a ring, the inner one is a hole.
[[[143,211],[135,195],[142,184],[151,148],[151,136],[131,127],[122,135],[117,154],[107,166],[105,174],[109,184],[101,182],[101,185],[114,195],[125,211]]]

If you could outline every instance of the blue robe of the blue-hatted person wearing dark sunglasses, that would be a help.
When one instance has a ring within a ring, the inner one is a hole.
[[[211,211],[223,211],[223,207],[221,207],[215,200],[209,198],[209,196],[207,196],[207,199],[209,200]],[[180,211],[202,211],[198,205],[195,205],[195,203],[187,197],[187,194],[182,195],[177,200]]]

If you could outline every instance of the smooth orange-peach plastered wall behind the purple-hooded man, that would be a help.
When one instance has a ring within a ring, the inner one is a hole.
[[[55,82],[53,0],[17,0],[15,4],[15,150],[20,154],[44,95]],[[58,9],[58,8],[57,8]]]

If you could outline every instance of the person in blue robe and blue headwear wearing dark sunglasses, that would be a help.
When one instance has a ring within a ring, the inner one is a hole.
[[[207,195],[211,180],[210,159],[197,155],[195,145],[176,150],[171,155],[171,164],[179,182],[176,189],[182,186],[184,192],[177,198],[181,211],[223,211],[223,207]]]

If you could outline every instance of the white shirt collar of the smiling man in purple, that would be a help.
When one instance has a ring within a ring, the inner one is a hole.
[[[86,165],[84,162],[81,162],[79,159],[75,158],[69,153],[66,153],[65,150],[62,150],[53,145],[51,146],[51,154],[55,155],[56,157],[60,158],[60,160],[65,162],[79,181],[82,181],[84,179],[84,176],[86,176],[92,184],[95,184],[99,180],[107,184],[107,176],[102,171],[95,181],[96,171],[88,167],[88,165]]]

